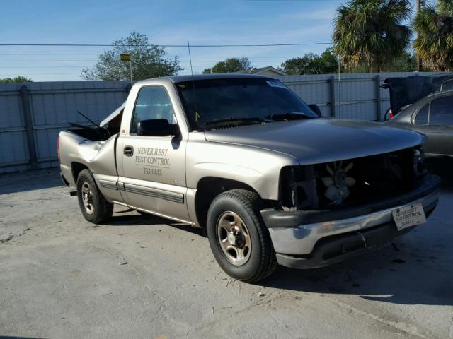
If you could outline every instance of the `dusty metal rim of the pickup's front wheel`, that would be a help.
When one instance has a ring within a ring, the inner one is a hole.
[[[252,244],[246,223],[234,212],[226,211],[217,220],[217,240],[226,259],[242,266],[250,258]]]

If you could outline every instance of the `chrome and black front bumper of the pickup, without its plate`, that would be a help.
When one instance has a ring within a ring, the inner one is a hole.
[[[319,218],[316,222],[303,222],[307,217],[303,211],[263,210],[261,214],[269,228],[277,261],[283,266],[315,268],[385,246],[401,237],[411,228],[398,232],[392,211],[421,203],[428,216],[437,205],[439,190],[440,178],[430,175],[414,191],[389,201],[334,213],[309,213],[309,220]],[[364,210],[371,212],[363,213]],[[342,215],[343,218],[338,218]]]

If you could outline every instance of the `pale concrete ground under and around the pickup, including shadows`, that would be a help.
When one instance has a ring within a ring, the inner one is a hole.
[[[453,338],[452,208],[447,184],[398,251],[249,285],[196,229],[122,207],[91,225],[57,170],[2,175],[0,338]]]

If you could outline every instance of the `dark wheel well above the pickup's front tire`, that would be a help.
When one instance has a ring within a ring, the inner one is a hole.
[[[201,227],[206,227],[207,210],[209,210],[214,198],[230,189],[246,189],[248,191],[256,192],[251,186],[248,186],[248,184],[237,182],[236,180],[205,177],[198,182],[197,194],[195,195],[195,210],[197,213],[197,220],[200,222]]]

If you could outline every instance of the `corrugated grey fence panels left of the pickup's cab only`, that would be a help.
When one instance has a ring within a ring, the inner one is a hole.
[[[37,168],[58,165],[57,136],[69,122],[88,124],[77,111],[99,122],[119,107],[129,92],[125,81],[0,84],[0,173],[31,168],[22,107],[24,85],[28,89]]]

